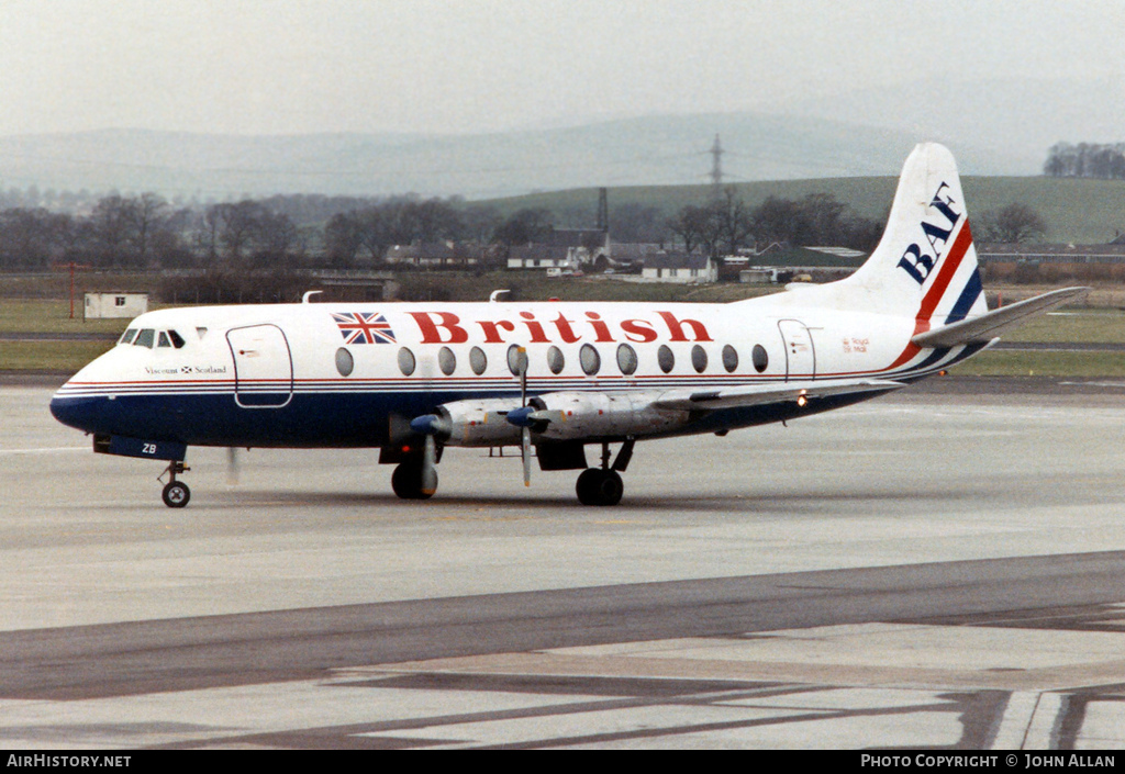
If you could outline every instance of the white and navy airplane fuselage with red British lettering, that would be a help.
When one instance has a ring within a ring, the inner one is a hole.
[[[732,304],[159,310],[130,324],[132,343],[123,339],[58,392],[56,415],[89,432],[188,444],[381,446],[392,415],[408,421],[465,399],[511,403],[520,393],[510,358],[518,346],[528,353],[529,396],[628,393],[629,412],[668,390],[889,374],[914,321],[803,306],[804,292]],[[940,360],[891,376],[921,376],[947,362]],[[87,410],[90,402],[116,405],[84,411],[91,416],[79,422],[65,411],[78,402]],[[605,414],[591,405],[592,415],[579,411],[577,418],[597,428],[596,417]],[[609,425],[591,436],[692,432],[683,417],[660,416],[652,410],[652,421],[639,429],[614,432]],[[758,421],[732,416],[730,426]],[[292,432],[274,432],[282,426]],[[714,432],[714,423],[700,431]],[[476,443],[465,439],[467,446],[490,442],[487,434]]]

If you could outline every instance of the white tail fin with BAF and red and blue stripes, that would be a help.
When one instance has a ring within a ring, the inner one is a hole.
[[[867,308],[912,316],[915,333],[988,312],[961,179],[948,148],[915,147],[902,166],[886,231],[840,285]]]

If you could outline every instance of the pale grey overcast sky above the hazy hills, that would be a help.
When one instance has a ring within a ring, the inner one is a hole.
[[[927,78],[1123,78],[1123,32],[1116,0],[0,0],[0,134],[781,111]]]

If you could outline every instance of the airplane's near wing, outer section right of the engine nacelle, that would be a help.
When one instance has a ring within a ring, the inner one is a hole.
[[[658,408],[680,411],[712,411],[744,408],[771,403],[811,400],[834,395],[860,393],[888,393],[906,387],[906,382],[890,379],[822,379],[817,381],[782,381],[766,385],[746,385],[720,389],[675,389],[656,400]]]

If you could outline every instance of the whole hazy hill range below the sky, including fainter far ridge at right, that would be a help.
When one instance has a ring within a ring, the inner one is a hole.
[[[963,174],[1034,176],[1059,141],[1125,141],[1125,80],[932,79],[755,110],[494,134],[232,136],[140,129],[0,137],[0,189],[243,195],[460,195],[703,183],[719,134],[728,182],[897,174],[918,142]],[[606,106],[613,108],[613,106]],[[518,122],[519,116],[511,117]]]

